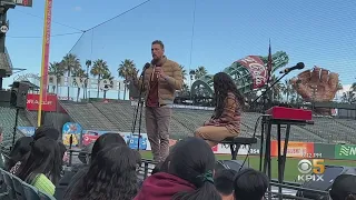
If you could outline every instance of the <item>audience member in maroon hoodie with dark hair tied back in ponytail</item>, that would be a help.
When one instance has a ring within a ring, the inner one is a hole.
[[[134,200],[220,200],[214,186],[215,156],[204,140],[187,138],[172,149],[167,172],[148,177]]]

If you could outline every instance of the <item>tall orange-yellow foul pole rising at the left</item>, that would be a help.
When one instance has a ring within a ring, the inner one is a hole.
[[[52,0],[46,0],[44,6],[44,26],[42,39],[42,64],[41,64],[41,82],[40,82],[40,98],[38,104],[37,126],[41,126],[42,120],[42,101],[47,96],[48,86],[48,64],[49,64],[49,46],[51,39],[51,22],[52,22]]]

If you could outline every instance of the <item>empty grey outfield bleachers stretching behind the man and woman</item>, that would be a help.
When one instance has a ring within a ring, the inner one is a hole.
[[[76,103],[62,101],[62,107],[83,129],[131,132],[136,107],[131,101]],[[196,128],[212,114],[211,110],[174,108],[171,118],[171,138],[192,136]],[[241,136],[253,136],[260,113],[245,112],[241,121]],[[139,118],[139,117],[138,117]],[[328,143],[356,143],[356,120],[314,117],[314,126],[290,129],[290,141],[312,141]],[[256,134],[260,134],[260,121]],[[285,128],[283,127],[281,131]],[[138,120],[136,132],[138,132]],[[141,132],[146,132],[145,109],[142,112]],[[277,138],[277,129],[273,128],[273,138]],[[283,132],[281,138],[285,134]]]

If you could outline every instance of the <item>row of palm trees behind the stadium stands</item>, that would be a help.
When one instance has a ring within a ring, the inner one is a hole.
[[[184,96],[189,96],[190,94],[190,86],[189,86],[189,80],[190,83],[194,80],[200,79],[204,76],[208,74],[208,71],[205,67],[200,66],[197,67],[196,69],[190,70],[189,72],[184,66],[180,66],[181,71],[182,71],[182,77],[184,77],[184,87],[181,90],[181,94]],[[112,68],[111,68],[112,69]],[[122,60],[116,68],[117,70],[117,77],[123,79],[125,82],[125,89],[123,89],[123,97],[126,97],[127,92],[127,84],[128,84],[128,79],[132,76],[136,76],[140,69],[136,66],[134,60],[131,59],[125,59]],[[81,66],[80,59],[72,53],[66,54],[61,61],[59,62],[51,62],[49,67],[49,74],[50,76],[56,76],[56,77],[80,77],[80,78],[95,78],[100,81],[101,79],[109,79],[112,80],[115,79],[115,73],[110,70],[107,61],[102,59],[97,59],[97,60],[86,60],[85,67]],[[271,82],[275,82],[277,80],[276,76],[271,77]],[[342,87],[342,86],[340,86]],[[56,91],[56,86],[52,86],[52,92]],[[82,92],[82,99],[88,98],[88,91],[85,87],[85,91]],[[98,88],[97,91],[97,98],[99,98],[99,91],[100,89]],[[274,101],[278,102],[288,102],[288,103],[300,103],[303,102],[301,97],[296,92],[296,90],[291,87],[290,82],[288,79],[286,79],[284,82],[278,82],[271,89],[271,94]],[[68,99],[69,99],[69,87],[68,87]],[[80,88],[78,88],[77,91],[77,101],[80,96]],[[256,93],[249,94],[250,98],[256,97]],[[103,98],[106,98],[106,91],[103,91]],[[125,98],[123,98],[125,99]],[[340,100],[343,102],[349,102],[349,103],[355,103],[356,102],[356,83],[353,83],[350,89],[346,92],[343,93],[340,97]]]

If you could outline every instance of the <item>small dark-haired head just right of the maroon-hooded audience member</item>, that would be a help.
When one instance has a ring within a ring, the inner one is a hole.
[[[231,169],[216,171],[214,184],[222,200],[234,200],[234,180],[237,171]]]

